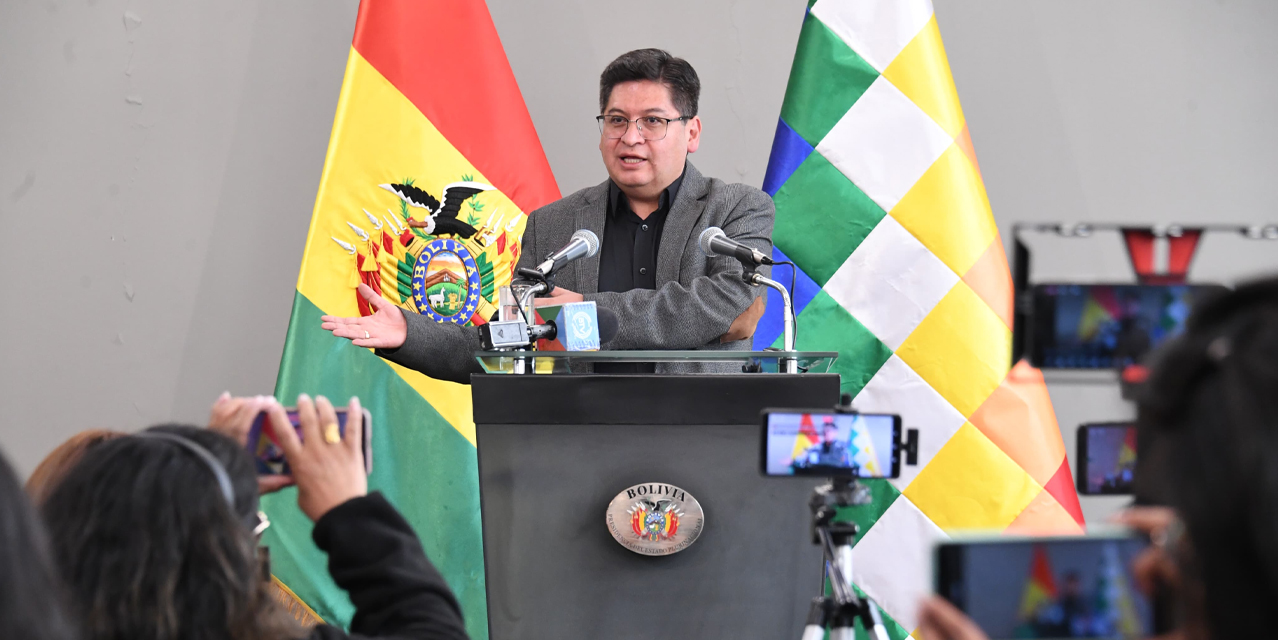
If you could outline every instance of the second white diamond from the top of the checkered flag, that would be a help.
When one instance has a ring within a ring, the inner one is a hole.
[[[879,77],[817,151],[891,212],[952,143],[932,116]]]

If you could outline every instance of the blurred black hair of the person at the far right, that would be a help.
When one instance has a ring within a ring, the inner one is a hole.
[[[1278,278],[1199,304],[1137,401],[1146,494],[1174,507],[1213,637],[1278,627]],[[1149,460],[1146,460],[1149,457]]]

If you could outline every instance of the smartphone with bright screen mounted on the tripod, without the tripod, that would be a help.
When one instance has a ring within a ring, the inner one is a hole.
[[[901,416],[895,414],[767,409],[762,442],[764,475],[901,475]]]

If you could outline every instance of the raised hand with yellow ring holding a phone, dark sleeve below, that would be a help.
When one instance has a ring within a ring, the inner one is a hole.
[[[368,493],[364,475],[363,410],[351,397],[346,413],[346,433],[339,434],[337,414],[323,396],[314,401],[298,396],[302,438],[293,430],[289,414],[279,402],[267,409],[271,430],[289,461],[298,485],[298,506],[312,521],[331,508]]]

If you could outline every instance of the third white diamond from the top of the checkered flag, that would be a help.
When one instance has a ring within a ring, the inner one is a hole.
[[[884,216],[824,289],[896,351],[956,282],[953,270],[892,216]]]

